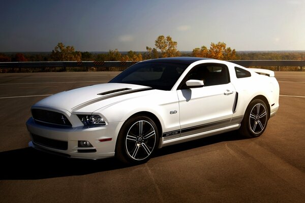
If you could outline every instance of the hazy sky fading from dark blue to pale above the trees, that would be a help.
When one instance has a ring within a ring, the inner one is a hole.
[[[179,51],[224,42],[236,51],[305,50],[305,0],[0,0],[0,52]]]

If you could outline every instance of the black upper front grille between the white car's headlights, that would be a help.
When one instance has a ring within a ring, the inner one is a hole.
[[[35,122],[41,125],[59,125],[64,127],[72,127],[72,124],[64,114],[41,109],[32,109],[32,115]]]

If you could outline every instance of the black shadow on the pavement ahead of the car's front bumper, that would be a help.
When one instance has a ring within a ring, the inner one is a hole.
[[[0,180],[35,180],[80,176],[125,167],[115,158],[70,159],[31,147],[0,152]]]

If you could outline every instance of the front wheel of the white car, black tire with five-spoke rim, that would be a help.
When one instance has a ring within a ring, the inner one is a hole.
[[[157,125],[147,116],[136,116],[121,127],[115,156],[127,164],[145,163],[159,144]]]

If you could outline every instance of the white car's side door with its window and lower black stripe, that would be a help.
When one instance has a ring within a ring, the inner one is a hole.
[[[203,87],[189,88],[187,80],[202,80]],[[181,135],[200,133],[229,125],[236,91],[224,64],[195,66],[177,90]]]

